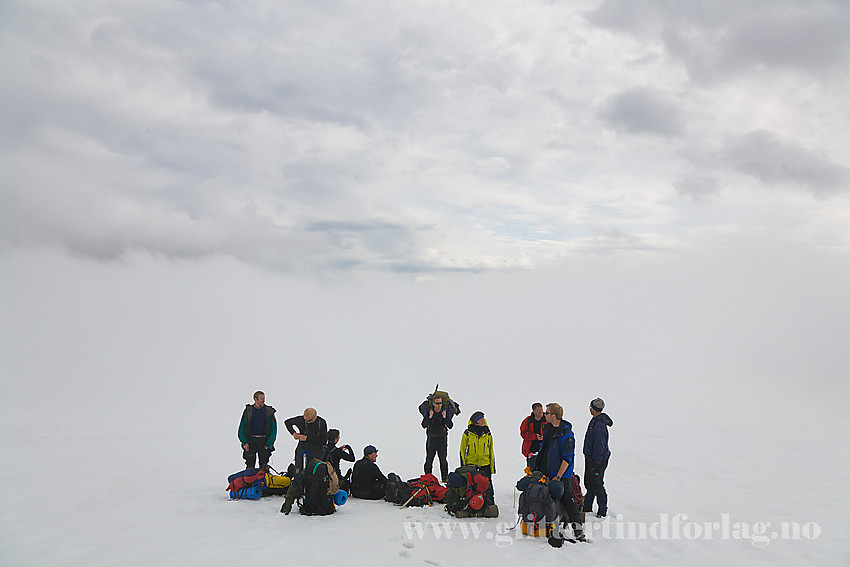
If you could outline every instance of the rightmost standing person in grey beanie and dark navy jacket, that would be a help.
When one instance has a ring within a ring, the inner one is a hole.
[[[593,510],[593,499],[599,503],[596,516],[603,518],[608,515],[608,493],[605,491],[605,469],[611,451],[608,449],[608,428],[614,425],[614,420],[608,414],[602,413],[605,402],[596,398],[590,402],[590,415],[593,417],[587,424],[584,434],[584,495],[585,513]]]

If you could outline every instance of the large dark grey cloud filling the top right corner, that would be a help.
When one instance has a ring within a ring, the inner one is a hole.
[[[596,26],[660,41],[698,80],[756,68],[817,73],[844,69],[850,15],[842,2],[605,0],[587,14]]]

